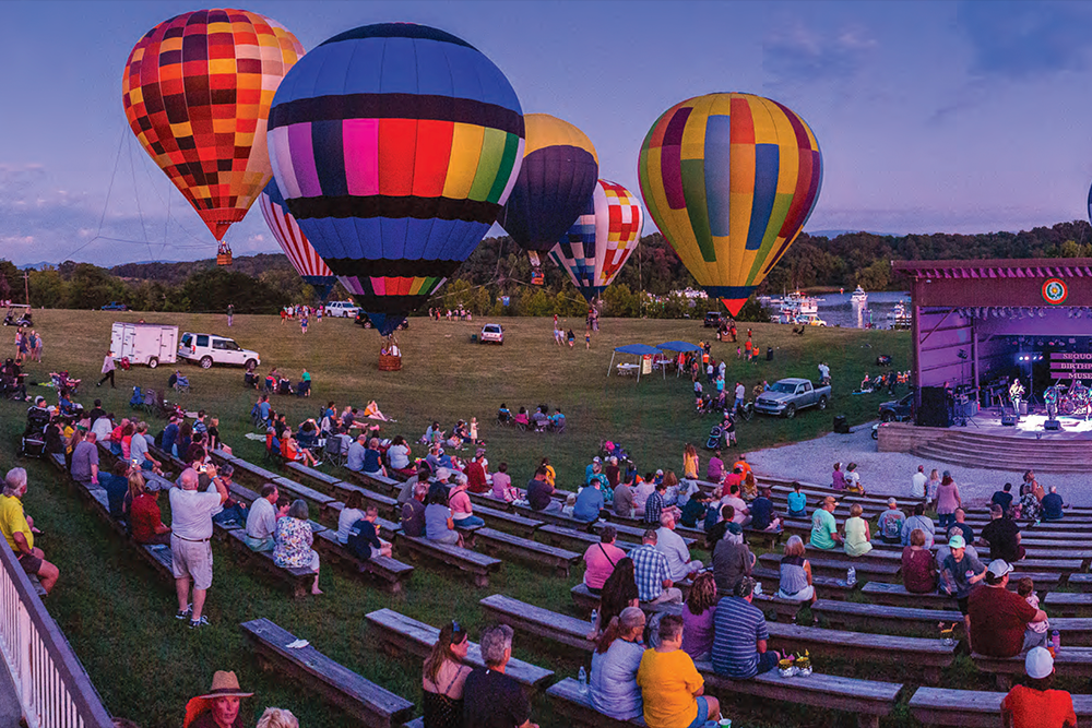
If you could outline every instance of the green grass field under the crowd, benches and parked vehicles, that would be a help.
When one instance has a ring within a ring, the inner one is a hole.
[[[95,380],[109,347],[114,321],[135,321],[140,314],[88,311],[41,311],[36,314],[45,341],[44,362],[28,367],[32,380],[47,381],[48,372],[68,369],[82,378],[82,395],[90,407],[95,396],[108,410],[124,416],[132,386],[164,387],[170,368],[145,368],[117,374],[118,389],[96,389]],[[431,322],[413,319],[412,329],[400,335],[404,368],[401,372],[379,372],[376,367],[379,337],[349,320],[324,320],[305,336],[298,325],[282,326],[273,317],[235,318],[228,329],[225,317],[197,314],[153,314],[150,321],[177,324],[180,331],[209,332],[234,336],[241,346],[262,355],[261,372],[277,366],[293,379],[306,367],[313,377],[309,399],[274,397],[273,406],[284,409],[288,420],[312,417],[328,401],[339,406],[364,406],[377,399],[389,416],[399,421],[384,428],[388,434],[403,433],[416,440],[434,419],[450,428],[455,419],[477,417],[480,437],[487,441],[489,460],[496,466],[507,461],[513,480],[524,482],[542,456],[549,456],[558,470],[558,482],[574,487],[584,465],[602,440],[624,444],[641,470],[656,467],[681,470],[682,446],[700,447],[712,416],[693,413],[688,379],[668,375],[619,379],[606,373],[615,346],[631,343],[657,344],[670,339],[697,343],[712,334],[698,321],[604,320],[601,332],[585,350],[558,348],[551,339],[548,319],[506,319],[503,346],[482,346],[471,342],[484,321]],[[582,321],[565,322],[579,331]],[[847,416],[851,425],[875,417],[886,397],[880,394],[852,396],[867,371],[875,373],[874,360],[890,354],[897,368],[909,368],[910,337],[906,333],[809,329],[804,337],[788,326],[757,324],[755,341],[764,351],[774,348],[772,361],[764,357],[753,363],[735,358],[735,347],[713,344],[714,358],[728,360],[729,383],[741,379],[748,390],[756,381],[799,375],[814,378],[816,363],[830,362],[835,382],[830,409],[804,411],[794,420],[757,418],[739,426],[744,449],[811,438],[829,431],[835,414]],[[8,338],[2,356],[12,356],[14,330],[3,330]],[[259,462],[262,445],[246,440],[250,431],[249,411],[256,399],[242,387],[240,369],[214,368],[202,371],[186,367],[192,391],[180,395],[188,409],[205,408],[219,416],[224,440],[244,458]],[[31,387],[50,399],[50,390]],[[497,406],[505,402],[513,411],[538,403],[560,406],[568,417],[562,435],[521,433],[492,423]],[[0,451],[0,467],[14,464],[14,451],[25,418],[25,407],[0,402],[0,429],[11,443]],[[151,422],[157,432],[163,422]],[[415,454],[420,454],[420,446]],[[419,702],[419,664],[413,658],[390,659],[372,648],[364,614],[391,607],[423,621],[440,624],[458,618],[476,639],[483,625],[477,600],[500,592],[543,607],[571,613],[569,588],[581,573],[568,580],[506,562],[491,580],[489,589],[476,590],[458,575],[419,565],[407,593],[390,597],[366,583],[347,577],[336,569],[323,569],[327,594],[317,599],[292,601],[263,576],[254,576],[230,562],[222,545],[214,546],[215,578],[209,593],[206,613],[212,626],[191,633],[174,619],[174,585],[156,576],[139,562],[131,547],[122,544],[94,514],[82,508],[74,493],[43,463],[26,464],[31,473],[27,512],[46,532],[40,545],[47,558],[59,564],[61,582],[47,606],[74,646],[108,709],[135,719],[146,728],[167,728],[181,723],[186,701],[207,688],[215,669],[234,669],[244,687],[254,690],[244,701],[244,725],[253,725],[268,705],[288,707],[309,728],[341,726],[345,717],[297,685],[275,673],[262,673],[244,643],[238,623],[268,617],[316,645],[332,658],[359,671],[385,688]],[[327,468],[329,469],[329,468]],[[805,475],[805,474],[802,474]],[[161,500],[161,503],[163,501]],[[707,558],[707,554],[699,554]],[[579,665],[530,644],[517,635],[518,657],[549,667],[559,676],[574,675]],[[845,673],[858,672],[845,666]],[[887,678],[898,677],[888,670]],[[729,705],[741,705],[729,704]],[[734,719],[738,707],[729,707]],[[535,704],[535,717],[543,725],[554,721],[545,701]],[[750,726],[851,725],[848,716],[819,716],[815,711],[784,707],[753,707],[740,714]],[[912,725],[897,716],[885,725]]]

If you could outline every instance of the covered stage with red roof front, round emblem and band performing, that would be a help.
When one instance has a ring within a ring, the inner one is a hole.
[[[996,421],[1008,437],[1092,439],[1092,259],[893,268],[910,282],[918,425],[986,430]]]

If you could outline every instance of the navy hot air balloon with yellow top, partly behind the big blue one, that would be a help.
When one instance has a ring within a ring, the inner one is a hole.
[[[592,141],[568,121],[527,114],[526,151],[512,196],[497,218],[529,253],[536,272],[545,253],[584,212],[600,176]]]

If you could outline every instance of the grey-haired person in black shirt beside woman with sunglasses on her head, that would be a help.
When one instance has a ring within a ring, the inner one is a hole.
[[[463,720],[474,728],[538,728],[531,723],[531,702],[523,688],[505,675],[512,658],[512,628],[487,626],[482,632],[482,661],[463,684]]]

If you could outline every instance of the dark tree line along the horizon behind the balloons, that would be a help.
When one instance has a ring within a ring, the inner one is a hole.
[[[808,288],[898,290],[905,284],[892,275],[895,260],[1092,258],[1092,226],[1084,220],[1058,223],[1020,232],[978,235],[881,236],[847,232],[833,238],[802,234],[770,272],[759,294]],[[531,261],[508,237],[486,238],[428,307],[462,307],[476,315],[583,315],[587,302],[568,275],[553,262],[544,266],[543,285],[531,283]],[[66,261],[28,272],[35,307],[97,309],[120,301],[139,311],[219,312],[234,303],[239,313],[274,313],[292,303],[313,303],[314,290],[282,254],[237,256],[230,267],[215,261],[126,263],[104,268]],[[604,315],[700,318],[716,301],[680,291],[697,282],[658,232],[641,244],[602,295]],[[0,300],[23,302],[23,272],[0,260]],[[339,285],[331,300],[348,300]],[[423,309],[426,307],[423,307]],[[425,313],[424,310],[418,313]],[[752,299],[740,318],[765,320]]]

